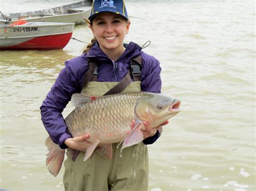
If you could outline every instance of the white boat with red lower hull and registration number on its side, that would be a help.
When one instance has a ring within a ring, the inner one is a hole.
[[[74,25],[46,22],[0,25],[0,50],[62,49],[69,43]]]

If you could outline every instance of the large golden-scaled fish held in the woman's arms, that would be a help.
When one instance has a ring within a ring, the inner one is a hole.
[[[145,128],[144,121],[154,128],[180,111],[180,101],[161,94],[145,92],[101,97],[73,94],[71,103],[76,108],[65,118],[71,135],[90,135],[87,141],[91,144],[86,150],[84,161],[96,148],[99,154],[111,158],[111,143],[123,143],[123,149],[142,142],[141,129]],[[136,125],[131,130],[132,120],[136,120]],[[57,176],[65,150],[53,143],[50,137],[46,139],[45,144],[49,150],[46,155],[46,166],[51,174]],[[75,158],[77,152],[68,148],[68,154]]]

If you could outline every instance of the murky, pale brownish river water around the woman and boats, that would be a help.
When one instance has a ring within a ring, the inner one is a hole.
[[[6,12],[56,3],[1,1]],[[182,108],[149,146],[149,190],[256,189],[254,3],[126,0],[126,42],[151,41],[144,51],[161,63],[162,92]],[[89,42],[92,34],[80,25],[73,37]],[[45,167],[48,135],[39,107],[64,61],[85,45],[71,40],[63,50],[0,52],[0,188],[64,190],[63,169],[54,178]]]

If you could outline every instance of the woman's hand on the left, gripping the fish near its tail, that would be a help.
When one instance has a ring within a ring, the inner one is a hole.
[[[91,146],[91,143],[87,141],[89,138],[90,135],[68,138],[65,140],[65,144],[75,150],[86,152],[86,149]]]

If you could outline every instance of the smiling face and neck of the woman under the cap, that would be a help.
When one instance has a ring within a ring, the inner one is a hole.
[[[96,37],[103,52],[123,51],[125,34],[129,32],[130,21],[126,22],[122,16],[112,12],[100,13],[93,19],[93,36]]]

